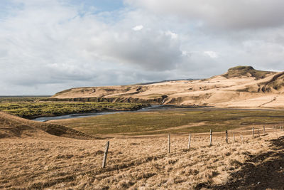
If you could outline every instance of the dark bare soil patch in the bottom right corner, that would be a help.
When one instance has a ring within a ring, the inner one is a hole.
[[[246,160],[226,184],[198,184],[195,189],[284,189],[284,136],[271,140],[271,151]]]

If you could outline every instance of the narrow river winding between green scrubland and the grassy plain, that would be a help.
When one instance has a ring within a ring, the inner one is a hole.
[[[89,112],[89,113],[75,113],[68,115],[60,115],[60,116],[48,116],[48,117],[38,117],[33,120],[46,122],[48,120],[64,120],[64,119],[72,119],[72,118],[80,118],[80,117],[93,117],[97,115],[109,115],[115,114],[119,112],[151,112],[155,110],[246,110],[246,109],[231,109],[231,108],[216,108],[216,107],[190,107],[190,106],[177,106],[177,105],[152,105],[150,107],[143,107],[140,110],[135,111],[109,111],[109,112]],[[266,109],[251,109],[251,110],[266,110]]]

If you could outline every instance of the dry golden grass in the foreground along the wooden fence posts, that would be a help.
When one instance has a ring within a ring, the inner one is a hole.
[[[0,139],[0,189],[222,189],[217,184],[226,183],[230,174],[244,169],[253,155],[283,152],[270,141],[283,135],[280,130],[254,139],[244,134],[241,142],[236,134],[236,142],[230,136],[226,144],[222,134],[213,136],[213,146],[209,147],[208,134],[192,134],[190,149],[187,136],[172,135],[170,154],[167,136]],[[107,140],[107,167],[102,169]],[[253,164],[257,167],[261,163],[257,159]],[[281,186],[280,182],[274,189]]]

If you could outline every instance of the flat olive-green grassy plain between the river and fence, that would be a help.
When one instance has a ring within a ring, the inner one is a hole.
[[[123,112],[49,121],[87,134],[146,135],[222,132],[249,125],[284,123],[284,110],[191,109]]]

